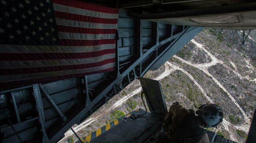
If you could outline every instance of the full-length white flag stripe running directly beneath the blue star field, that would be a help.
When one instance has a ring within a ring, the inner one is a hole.
[[[0,53],[65,53],[65,52],[94,52],[114,49],[115,44],[94,46],[58,46],[58,45],[0,45]]]

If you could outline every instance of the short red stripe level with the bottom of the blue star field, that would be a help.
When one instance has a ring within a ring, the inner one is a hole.
[[[101,40],[71,40],[71,39],[59,39],[63,46],[93,46],[103,44],[114,44],[115,39],[101,39]]]

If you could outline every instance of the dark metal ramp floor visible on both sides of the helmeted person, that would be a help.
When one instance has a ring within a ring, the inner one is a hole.
[[[145,110],[135,110],[134,114],[143,114]],[[130,113],[132,114],[132,113]],[[147,112],[137,119],[118,119],[119,123],[103,132],[90,143],[175,143],[170,141],[161,128],[163,117]],[[236,143],[215,132],[207,132],[211,143]]]

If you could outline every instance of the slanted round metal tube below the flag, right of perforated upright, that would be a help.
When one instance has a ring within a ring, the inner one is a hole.
[[[43,85],[39,84],[39,88],[41,92],[43,92],[46,100],[52,105],[52,108],[57,112],[59,118],[63,121],[63,123],[67,122],[67,117],[59,110],[58,106],[54,103],[50,95],[47,93],[47,91],[44,89]]]

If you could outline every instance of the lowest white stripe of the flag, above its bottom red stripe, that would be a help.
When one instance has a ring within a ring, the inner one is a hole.
[[[46,77],[52,77],[52,76],[62,76],[62,75],[68,75],[68,74],[79,74],[79,73],[84,73],[84,72],[100,71],[100,70],[108,69],[111,67],[115,67],[115,62],[108,63],[106,65],[102,65],[99,67],[91,67],[91,68],[86,68],[86,69],[40,72],[40,73],[30,73],[30,74],[0,75],[0,83],[1,82],[9,82],[9,81],[31,80],[34,78],[46,78]]]

